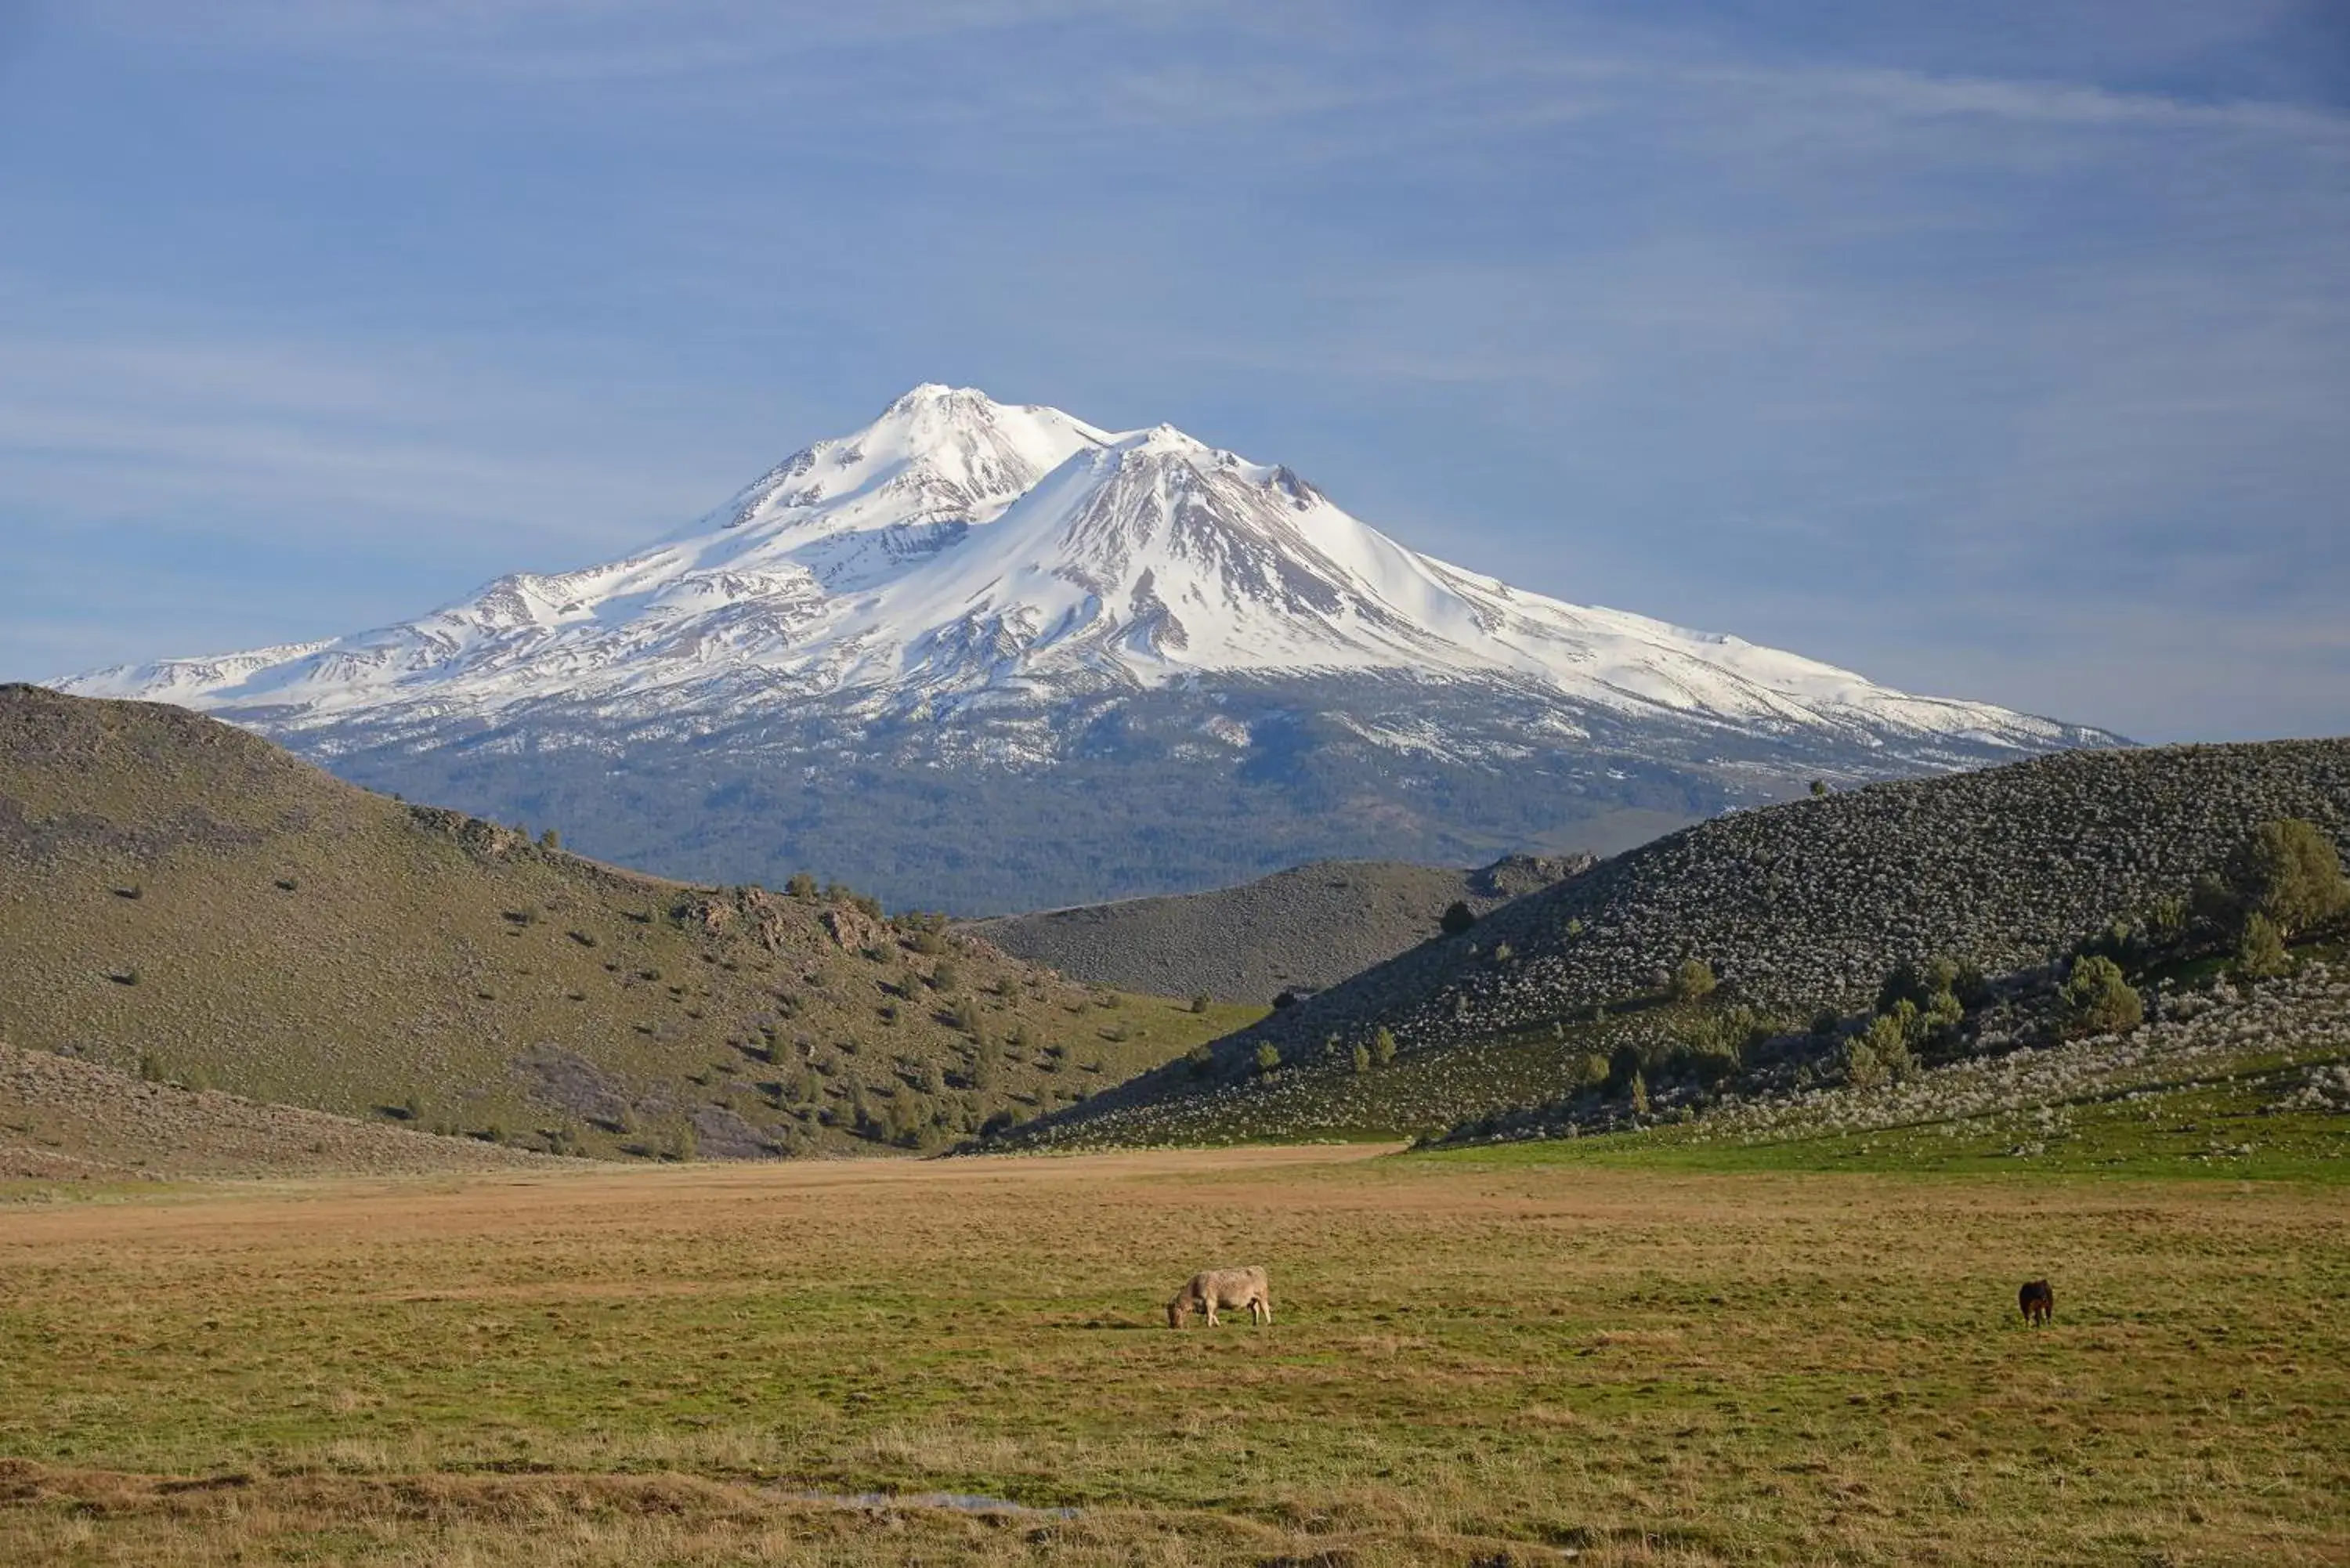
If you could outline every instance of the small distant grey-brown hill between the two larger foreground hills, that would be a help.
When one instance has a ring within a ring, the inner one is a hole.
[[[1589,867],[1591,856],[1504,856],[1476,870],[1316,860],[1208,893],[1006,914],[968,931],[1093,985],[1271,1001],[1424,943],[1455,903],[1490,914]]]

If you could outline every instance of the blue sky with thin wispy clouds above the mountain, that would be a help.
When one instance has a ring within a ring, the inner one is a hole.
[[[2350,7],[0,0],[0,679],[583,564],[916,381],[2343,733]]]

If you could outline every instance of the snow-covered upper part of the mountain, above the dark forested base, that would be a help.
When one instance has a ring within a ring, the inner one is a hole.
[[[125,665],[82,696],[266,708],[273,729],[524,703],[726,715],[778,696],[938,705],[1069,682],[1391,670],[1619,712],[2037,750],[2061,724],[1582,609],[1417,555],[1288,468],[1159,425],[921,386],[616,562],[515,574],[378,632]]]

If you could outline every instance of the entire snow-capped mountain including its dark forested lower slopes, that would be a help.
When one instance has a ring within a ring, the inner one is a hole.
[[[964,912],[1612,849],[1810,776],[2115,741],[1523,592],[1288,468],[942,386],[616,562],[59,684],[649,870]]]

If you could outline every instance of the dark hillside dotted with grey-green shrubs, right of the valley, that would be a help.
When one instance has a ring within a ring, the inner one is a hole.
[[[1659,1107],[1810,1091],[1840,1081],[1887,973],[1929,959],[1979,978],[1962,1018],[1913,1041],[1927,1065],[2000,1056],[2063,1032],[2061,959],[2084,938],[2122,940],[2115,952],[2148,994],[2183,985],[2204,994],[2181,1006],[2249,1006],[2207,990],[2214,931],[2190,922],[2157,940],[2148,919],[2164,907],[2186,919],[2197,877],[2277,816],[2345,837],[2350,743],[2075,752],[1723,818],[1424,943],[1020,1140],[1610,1126],[1645,1114],[1631,1105],[1636,1072]],[[1718,980],[1704,1001],[1671,994],[1690,961]],[[2326,1006],[2296,1001],[2291,1027],[2324,1037]]]

